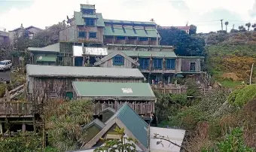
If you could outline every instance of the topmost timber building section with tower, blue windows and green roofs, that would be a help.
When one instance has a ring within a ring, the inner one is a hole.
[[[160,35],[156,23],[126,20],[105,20],[96,13],[95,5],[81,5],[74,12],[70,26],[59,32],[60,42],[88,44],[158,45]]]

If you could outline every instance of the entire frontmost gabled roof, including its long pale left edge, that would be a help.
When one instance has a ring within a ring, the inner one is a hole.
[[[136,114],[130,105],[124,103],[121,108],[105,123],[106,126],[87,144],[84,148],[93,147],[114,124],[124,128],[125,134],[133,139],[137,139],[137,145],[142,150],[148,149],[148,123],[146,123],[139,114]]]

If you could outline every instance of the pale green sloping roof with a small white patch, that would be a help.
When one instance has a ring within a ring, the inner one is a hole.
[[[137,97],[154,100],[148,83],[114,83],[73,81],[77,96],[82,97]],[[130,99],[130,98],[129,98]]]

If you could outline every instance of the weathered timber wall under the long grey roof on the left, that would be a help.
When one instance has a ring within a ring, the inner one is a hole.
[[[29,77],[29,93],[32,97],[46,96],[52,98],[66,98],[66,92],[74,93],[72,81],[93,81],[93,82],[142,82],[135,78],[39,78]]]

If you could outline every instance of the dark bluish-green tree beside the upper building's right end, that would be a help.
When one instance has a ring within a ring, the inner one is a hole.
[[[187,35],[180,29],[157,29],[162,40],[161,45],[172,45],[179,56],[204,56],[205,41],[197,35]]]

